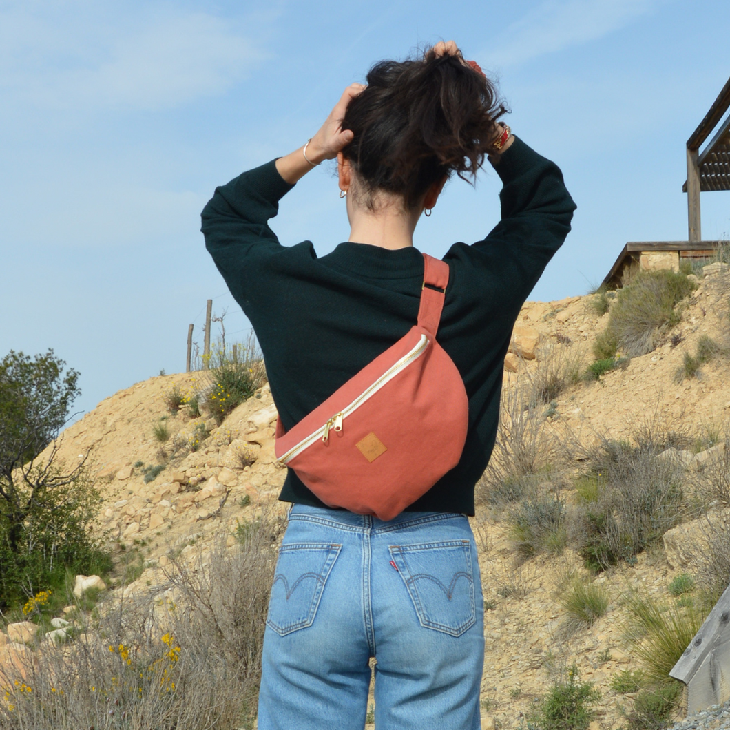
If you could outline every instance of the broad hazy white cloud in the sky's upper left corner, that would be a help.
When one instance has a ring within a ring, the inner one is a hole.
[[[223,93],[265,57],[240,20],[170,5],[130,4],[106,15],[98,8],[77,1],[50,12],[33,3],[0,10],[6,102],[55,110],[177,107]]]

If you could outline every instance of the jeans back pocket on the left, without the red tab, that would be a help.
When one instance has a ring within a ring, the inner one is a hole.
[[[322,592],[342,545],[295,542],[282,545],[266,623],[281,636],[314,623]]]

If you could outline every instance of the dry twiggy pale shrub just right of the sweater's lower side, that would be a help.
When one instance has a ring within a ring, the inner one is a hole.
[[[531,383],[521,377],[515,379],[513,387],[508,385],[502,391],[496,443],[477,483],[477,499],[481,502],[517,502],[534,491],[539,475],[549,469],[555,442],[534,402]]]

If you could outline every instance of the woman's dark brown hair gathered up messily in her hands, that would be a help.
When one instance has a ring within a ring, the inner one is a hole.
[[[372,209],[373,193],[394,193],[412,210],[452,172],[476,177],[505,111],[493,83],[460,56],[430,50],[380,61],[342,122],[355,134],[342,153],[358,175],[357,194]]]

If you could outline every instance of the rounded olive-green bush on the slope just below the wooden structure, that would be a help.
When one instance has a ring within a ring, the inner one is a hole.
[[[680,320],[676,307],[694,288],[685,274],[639,272],[618,291],[606,329],[593,346],[597,360],[618,350],[629,357],[650,353],[658,338]]]

